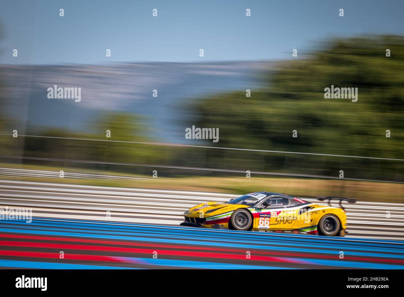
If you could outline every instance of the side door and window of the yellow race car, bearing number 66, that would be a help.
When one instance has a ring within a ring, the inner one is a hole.
[[[270,206],[264,203],[269,202]],[[290,207],[285,196],[270,196],[261,201],[256,209],[254,228],[259,230],[290,230],[296,222],[297,210]]]

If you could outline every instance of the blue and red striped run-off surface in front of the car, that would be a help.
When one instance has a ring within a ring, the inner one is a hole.
[[[59,219],[0,225],[0,268],[404,268],[400,241]]]

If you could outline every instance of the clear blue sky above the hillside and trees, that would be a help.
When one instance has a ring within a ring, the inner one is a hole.
[[[0,63],[288,59],[332,36],[403,35],[403,8],[401,0],[2,0]]]

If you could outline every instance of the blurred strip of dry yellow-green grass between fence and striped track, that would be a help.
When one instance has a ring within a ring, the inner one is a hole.
[[[1,164],[1,167],[49,170],[59,173],[60,167]],[[151,175],[118,174],[106,171],[78,170],[63,168],[65,172],[92,173],[105,175],[124,175],[131,177],[146,177]],[[404,203],[404,184],[381,183],[372,181],[324,180],[307,178],[283,177],[158,177],[147,180],[104,180],[104,179],[72,179],[44,177],[9,177],[0,175],[0,179],[18,181],[36,181],[47,183],[69,183],[79,185],[94,185],[104,187],[132,187],[148,189],[190,190],[227,194],[246,194],[254,191],[285,193],[299,197],[314,197],[317,195],[357,198],[360,201]]]

